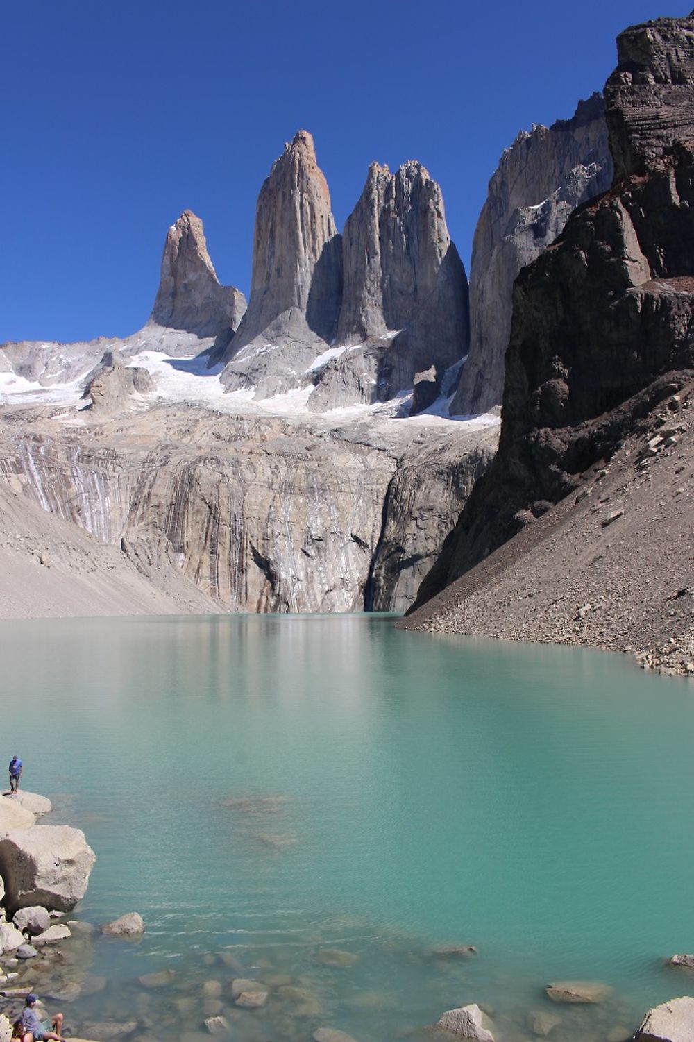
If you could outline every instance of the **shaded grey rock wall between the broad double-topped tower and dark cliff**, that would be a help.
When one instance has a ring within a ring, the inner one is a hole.
[[[470,353],[451,414],[501,402],[513,284],[563,230],[576,206],[606,191],[613,164],[599,94],[570,120],[521,131],[490,183],[472,247]]]

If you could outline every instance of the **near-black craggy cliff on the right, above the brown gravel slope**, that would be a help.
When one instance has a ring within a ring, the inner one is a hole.
[[[531,539],[525,530],[538,531],[536,519],[575,496],[583,475],[616,458],[639,425],[688,387],[693,28],[692,18],[660,19],[619,38],[619,66],[605,86],[615,182],[579,208],[517,279],[499,451],[423,584],[420,603],[512,537]],[[663,107],[667,121],[656,118],[656,137],[648,130],[641,147],[641,127],[649,128],[652,111]],[[691,534],[687,487],[677,499],[677,516],[687,514]],[[644,552],[652,537],[652,528],[642,534]],[[667,527],[659,537],[676,542]],[[691,536],[681,550],[691,556]],[[605,575],[605,598],[616,581]],[[661,602],[668,591],[664,584]],[[688,638],[681,640],[686,651]]]

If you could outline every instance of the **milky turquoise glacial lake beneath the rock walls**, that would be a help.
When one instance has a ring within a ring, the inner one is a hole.
[[[497,1042],[531,1010],[604,1042],[694,994],[663,962],[694,950],[691,681],[382,616],[3,622],[0,653],[5,761],[97,855],[78,916],[147,927],[80,944],[77,979],[107,983],[68,1024],[146,1013],[138,1039],[193,1042],[224,1012],[240,1040],[381,1042],[476,1001]],[[238,976],[264,1010],[230,1003]],[[557,1006],[563,979],[614,996]]]

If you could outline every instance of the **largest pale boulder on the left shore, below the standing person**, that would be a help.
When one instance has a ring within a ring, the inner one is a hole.
[[[15,828],[0,839],[0,875],[7,908],[17,912],[43,904],[69,912],[84,896],[94,861],[94,851],[79,828]]]

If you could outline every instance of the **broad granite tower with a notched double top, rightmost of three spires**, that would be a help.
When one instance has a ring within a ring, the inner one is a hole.
[[[439,184],[420,163],[373,163],[343,233],[336,356],[316,373],[311,406],[392,398],[415,373],[440,375],[468,349],[468,287]]]

